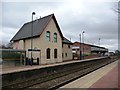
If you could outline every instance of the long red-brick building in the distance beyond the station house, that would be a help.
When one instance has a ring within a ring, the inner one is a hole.
[[[81,49],[80,49],[80,45],[81,45]],[[83,54],[84,54],[84,56],[88,56],[88,55],[92,55],[92,54],[104,55],[106,52],[108,52],[108,49],[106,49],[104,47],[99,47],[99,46],[90,45],[90,44],[86,44],[86,43],[83,44],[80,42],[74,42],[73,46],[72,46],[72,52],[73,52],[73,56],[75,59],[80,58],[80,50],[82,52],[82,56],[83,56]]]

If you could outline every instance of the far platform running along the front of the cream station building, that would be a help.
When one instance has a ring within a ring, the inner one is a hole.
[[[84,60],[71,60],[68,62],[59,62],[54,64],[46,64],[46,65],[23,65],[23,66],[16,66],[16,67],[3,67],[0,66],[0,74],[7,74],[7,73],[13,73],[13,72],[21,72],[21,71],[27,71],[27,70],[34,70],[34,69],[40,69],[44,67],[52,67],[57,65],[64,65],[64,64],[70,64],[70,63],[76,63],[76,62],[84,62],[84,61],[90,61],[90,60],[96,60],[96,59],[102,59],[106,57],[99,57],[99,58],[92,58],[92,59],[84,59]]]

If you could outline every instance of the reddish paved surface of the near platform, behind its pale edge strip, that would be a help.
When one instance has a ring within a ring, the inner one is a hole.
[[[113,68],[90,88],[118,88],[118,67]]]

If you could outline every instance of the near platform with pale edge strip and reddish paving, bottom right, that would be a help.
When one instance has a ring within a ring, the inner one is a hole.
[[[70,82],[58,90],[63,88],[118,88],[118,61]]]

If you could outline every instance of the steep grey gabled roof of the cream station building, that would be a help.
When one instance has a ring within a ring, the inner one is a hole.
[[[54,14],[33,21],[33,37],[40,36],[52,18],[55,21],[55,25],[58,28],[61,38],[63,39],[62,32],[60,30],[60,27],[57,23]],[[10,41],[17,41],[21,39],[31,38],[32,37],[31,28],[32,28],[32,21],[25,23]]]

